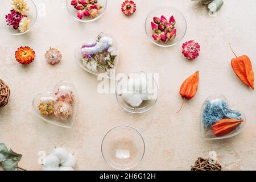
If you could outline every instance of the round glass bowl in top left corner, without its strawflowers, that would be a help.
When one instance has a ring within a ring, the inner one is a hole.
[[[30,28],[25,32],[20,32],[19,30],[15,30],[13,26],[9,26],[6,22],[6,15],[11,13],[11,9],[13,5],[11,3],[13,1],[11,0],[5,0],[1,1],[0,6],[0,28],[5,31],[7,34],[10,35],[23,35],[26,34],[28,31],[30,31],[36,23],[36,19],[38,17],[38,10],[36,9],[36,5],[31,0],[25,0],[27,2],[27,6],[29,7],[29,10],[27,11],[26,15],[27,18],[30,19]]]

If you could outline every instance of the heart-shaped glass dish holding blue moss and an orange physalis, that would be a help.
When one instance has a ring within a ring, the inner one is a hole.
[[[224,121],[222,119],[236,119],[239,124],[233,125],[225,122],[216,127],[216,123]],[[205,100],[201,109],[200,122],[201,137],[209,140],[234,137],[242,131],[246,123],[245,115],[241,111],[230,109],[228,100],[221,94],[214,94]]]

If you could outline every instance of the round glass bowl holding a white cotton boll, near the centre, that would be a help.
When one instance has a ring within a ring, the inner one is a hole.
[[[130,78],[134,78],[130,83]],[[139,85],[138,85],[139,84]],[[127,100],[127,93],[129,100]],[[124,75],[115,88],[118,104],[129,113],[144,113],[155,106],[158,100],[158,83],[151,73],[137,72]],[[124,94],[126,97],[124,97]],[[133,95],[130,95],[133,94]],[[141,97],[141,98],[140,98]],[[133,104],[133,99],[137,103]],[[141,102],[141,104],[139,104]],[[139,105],[139,106],[138,106]]]

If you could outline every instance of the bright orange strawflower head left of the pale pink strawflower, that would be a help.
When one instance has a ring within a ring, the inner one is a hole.
[[[30,47],[20,47],[15,52],[15,58],[20,64],[30,64],[35,59],[35,51]]]

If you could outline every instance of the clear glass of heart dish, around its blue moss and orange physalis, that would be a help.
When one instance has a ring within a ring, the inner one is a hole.
[[[226,103],[226,105],[228,106],[228,109],[230,109],[228,100],[226,99],[226,97],[222,96],[221,94],[214,94],[212,96],[209,96],[205,100],[203,107],[201,109],[201,121],[200,121],[201,137],[203,139],[217,140],[217,139],[225,139],[225,138],[234,137],[234,136],[238,135],[239,133],[241,133],[243,127],[245,127],[245,124],[246,124],[245,115],[241,111],[239,111],[241,113],[241,115],[239,116],[239,119],[243,119],[243,122],[240,124],[240,126],[238,126],[235,130],[233,130],[232,132],[230,132],[222,137],[216,137],[213,133],[212,125],[205,126],[204,109],[207,107],[207,104],[210,104],[210,102],[217,103],[217,101],[224,101]],[[207,108],[211,108],[211,107],[207,107]],[[213,107],[213,109],[215,109],[215,108],[216,107]],[[213,112],[213,111],[211,111],[211,112]],[[228,117],[225,117],[225,118],[228,118]]]

